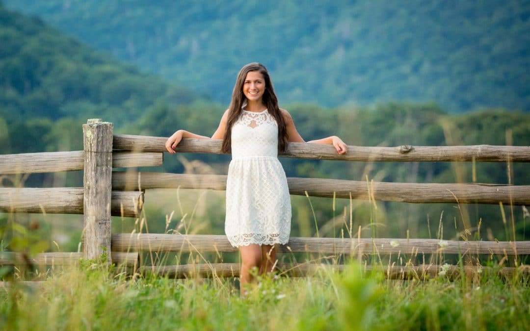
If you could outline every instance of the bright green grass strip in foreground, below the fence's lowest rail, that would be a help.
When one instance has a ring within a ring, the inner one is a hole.
[[[34,290],[2,291],[0,300],[0,325],[12,330],[521,330],[530,323],[529,288],[495,276],[461,287],[324,273],[262,279],[241,297],[232,280],[131,280],[92,265],[57,272]]]

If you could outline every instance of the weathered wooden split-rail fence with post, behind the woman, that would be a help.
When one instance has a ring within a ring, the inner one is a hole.
[[[112,123],[88,120],[83,125],[84,150],[56,153],[0,155],[0,175],[84,170],[83,187],[19,188],[0,187],[0,211],[12,213],[83,214],[83,252],[40,253],[28,256],[4,252],[0,264],[30,261],[35,265],[67,265],[80,257],[97,258],[111,252],[108,263],[123,264],[145,273],[174,278],[237,277],[238,264],[222,263],[174,266],[141,266],[139,252],[234,252],[225,236],[114,234],[111,215],[139,217],[144,190],[158,188],[225,190],[224,175],[189,175],[143,172],[117,172],[112,168],[160,166],[163,164],[166,138],[113,135]],[[220,154],[220,140],[183,139],[178,152]],[[527,146],[348,146],[346,155],[338,155],[332,146],[290,143],[282,157],[343,161],[462,161],[530,162]],[[484,203],[530,204],[530,186],[492,184],[420,184],[288,178],[290,194],[347,199],[400,201],[409,203]],[[365,255],[486,254],[517,256],[530,254],[530,241],[456,241],[438,239],[384,238],[301,238],[292,237],[279,253],[317,253],[323,257]],[[326,269],[342,270],[343,265],[318,263],[278,264],[280,274],[302,276]],[[365,266],[367,271],[376,266]],[[434,276],[442,267],[433,264],[379,268],[388,278],[405,279]],[[523,268],[524,269],[524,268]],[[447,266],[448,276],[461,272],[488,271],[480,266]],[[524,269],[527,270],[527,269]],[[491,271],[491,270],[490,270]],[[516,268],[496,270],[510,275]],[[491,271],[493,272],[493,271]]]

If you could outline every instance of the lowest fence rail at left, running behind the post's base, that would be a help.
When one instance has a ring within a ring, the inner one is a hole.
[[[111,254],[112,263],[116,265],[138,266],[139,254],[136,252],[113,252]],[[21,253],[2,252],[0,253],[0,265],[11,264],[33,264],[33,265],[50,265],[63,266],[73,265],[79,263],[80,258],[83,257],[82,252],[52,252],[40,253],[33,257],[25,257]]]

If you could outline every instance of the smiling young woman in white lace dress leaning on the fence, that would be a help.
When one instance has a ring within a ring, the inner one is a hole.
[[[182,138],[209,139],[178,130],[166,141],[169,153]],[[291,115],[278,106],[267,69],[259,63],[244,66],[237,75],[229,108],[211,139],[223,139],[222,152],[232,153],[226,181],[225,232],[241,253],[241,284],[252,281],[251,270],[271,272],[276,245],[289,240],[291,204],[287,178],[278,160],[287,142],[305,142]],[[331,136],[308,141],[332,144],[337,153],[346,144]]]

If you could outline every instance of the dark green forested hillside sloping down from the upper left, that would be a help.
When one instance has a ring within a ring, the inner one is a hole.
[[[196,99],[186,88],[2,7],[0,44],[0,118],[8,122],[64,117],[125,122],[157,101]]]

